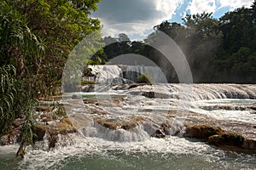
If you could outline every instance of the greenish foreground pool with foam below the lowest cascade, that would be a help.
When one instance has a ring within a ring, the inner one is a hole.
[[[16,147],[17,148],[17,147]],[[256,156],[218,150],[199,141],[178,137],[137,143],[81,139],[56,150],[28,148],[15,160],[15,147],[0,147],[1,169],[254,169]]]

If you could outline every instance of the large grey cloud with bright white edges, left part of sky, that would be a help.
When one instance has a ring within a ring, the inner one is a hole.
[[[92,16],[102,21],[104,36],[125,33],[143,37],[153,26],[171,20],[182,3],[183,0],[102,0]]]

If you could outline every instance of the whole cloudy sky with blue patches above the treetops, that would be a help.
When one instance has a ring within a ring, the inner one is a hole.
[[[250,7],[254,0],[102,0],[91,14],[102,21],[103,36],[127,34],[143,40],[164,20],[182,23],[185,14],[212,13],[219,18],[236,8]]]

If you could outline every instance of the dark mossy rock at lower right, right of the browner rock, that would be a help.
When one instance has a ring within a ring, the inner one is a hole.
[[[241,146],[244,142],[244,137],[236,133],[220,133],[212,135],[208,138],[208,141],[217,146],[219,145],[231,145]]]

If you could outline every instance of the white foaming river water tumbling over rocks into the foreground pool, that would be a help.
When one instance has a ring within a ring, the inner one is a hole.
[[[116,75],[118,73],[116,72]],[[238,84],[154,84],[96,85],[95,92],[78,93],[95,96],[96,104],[78,104],[79,99],[67,99],[72,115],[83,114],[85,125],[79,133],[59,135],[55,149],[48,150],[48,139],[27,149],[25,159],[11,161],[8,147],[0,147],[0,165],[3,169],[253,169],[256,156],[218,150],[196,140],[182,137],[183,122],[189,111],[195,112],[195,121],[228,122],[236,126],[256,124],[256,115],[248,106],[256,102],[255,85]],[[148,97],[148,93],[154,94]],[[67,94],[67,96],[73,94]],[[119,99],[119,102],[116,100]],[[64,101],[63,101],[64,102]],[[239,106],[239,107],[238,107]],[[224,108],[229,108],[224,109]],[[237,109],[238,108],[238,109]],[[239,110],[245,108],[245,110]],[[169,111],[177,111],[169,116]],[[102,114],[104,113],[104,114]],[[71,115],[70,115],[71,116]],[[101,117],[118,122],[129,122],[132,116],[141,116],[146,122],[126,131],[110,130],[92,121]],[[72,116],[71,116],[72,117]],[[206,120],[203,120],[207,117]],[[85,119],[84,119],[85,120]],[[193,119],[192,119],[193,120]],[[83,121],[80,119],[80,121]],[[170,134],[164,139],[150,137],[161,122],[170,122]],[[233,125],[232,125],[233,126]],[[244,131],[249,131],[244,127]],[[244,132],[247,133],[247,132]],[[8,157],[8,158],[5,158]],[[3,163],[6,161],[6,163]],[[14,166],[15,165],[15,166]]]

